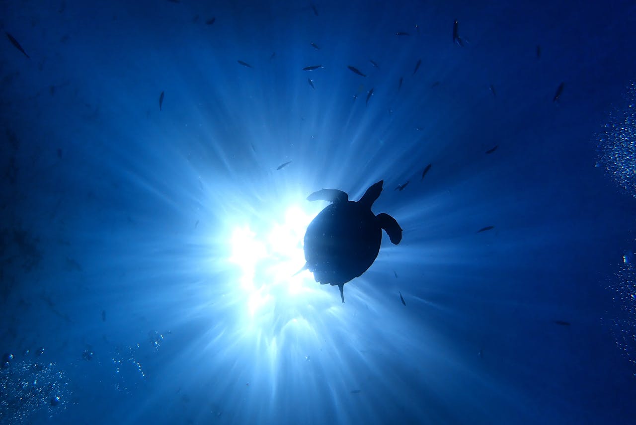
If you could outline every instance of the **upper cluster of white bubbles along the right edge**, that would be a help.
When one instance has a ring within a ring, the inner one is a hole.
[[[627,88],[625,108],[612,112],[603,127],[597,167],[604,167],[618,186],[636,196],[636,83]]]

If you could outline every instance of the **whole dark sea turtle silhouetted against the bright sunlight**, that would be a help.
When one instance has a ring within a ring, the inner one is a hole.
[[[402,240],[402,229],[389,214],[377,216],[371,212],[373,202],[382,193],[380,180],[366,190],[355,202],[349,195],[336,189],[322,189],[307,200],[326,200],[325,207],[307,226],[305,232],[305,267],[314,274],[316,282],[340,288],[345,302],[343,286],[371,267],[380,251],[382,229],[394,244]]]

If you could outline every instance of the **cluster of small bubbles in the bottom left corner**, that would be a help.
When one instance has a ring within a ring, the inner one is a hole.
[[[39,349],[36,354],[43,352]],[[55,363],[16,359],[5,353],[0,364],[0,424],[26,423],[34,414],[49,417],[66,409],[71,398],[66,374]]]

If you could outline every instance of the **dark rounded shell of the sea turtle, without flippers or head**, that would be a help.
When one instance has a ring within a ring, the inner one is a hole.
[[[305,260],[321,284],[342,285],[371,267],[382,228],[369,206],[342,201],[325,207],[305,232]]]

